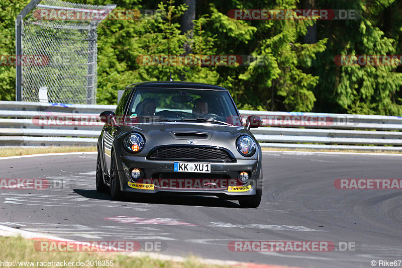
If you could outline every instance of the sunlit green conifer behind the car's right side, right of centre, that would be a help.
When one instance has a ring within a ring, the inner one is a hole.
[[[216,1],[219,3],[220,1]],[[297,0],[232,3],[232,9],[296,9]],[[238,106],[258,110],[311,111],[316,98],[313,88],[318,76],[305,69],[316,54],[325,50],[326,39],[303,44],[307,27],[314,21],[267,20],[238,21],[211,9],[213,31],[220,39],[222,53],[252,55],[250,66],[219,69],[222,78],[230,77],[232,95]],[[226,13],[228,9],[225,10]],[[234,40],[235,39],[235,40]],[[222,72],[221,72],[222,71]],[[224,75],[223,73],[227,73]]]

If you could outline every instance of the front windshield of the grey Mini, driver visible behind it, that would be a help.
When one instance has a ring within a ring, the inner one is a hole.
[[[127,115],[139,120],[158,118],[162,122],[241,124],[233,120],[239,114],[226,91],[136,89]]]

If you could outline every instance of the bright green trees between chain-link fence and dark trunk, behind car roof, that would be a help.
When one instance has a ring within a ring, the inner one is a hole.
[[[203,24],[207,17],[195,20],[193,40],[189,33],[180,31],[179,19],[185,5],[158,4],[158,13],[153,17],[137,21],[107,21],[99,26],[98,42],[98,103],[115,103],[117,90],[132,82],[180,80],[184,75],[187,81],[216,83],[219,77],[215,67],[181,66],[175,64],[144,64],[144,55],[183,55],[183,44],[192,46],[193,54],[213,53],[214,38],[204,36]],[[105,75],[106,74],[106,75]]]

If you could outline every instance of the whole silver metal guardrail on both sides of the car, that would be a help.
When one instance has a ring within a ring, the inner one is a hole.
[[[102,123],[42,126],[35,124],[33,118],[74,115],[95,117],[103,111],[115,109],[113,105],[0,101],[0,145],[96,145]],[[263,147],[402,150],[402,117],[245,110],[240,113],[244,118],[258,115],[265,124],[271,125],[252,129]],[[317,118],[324,123],[312,124]]]

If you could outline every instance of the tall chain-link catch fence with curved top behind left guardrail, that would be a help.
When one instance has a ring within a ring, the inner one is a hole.
[[[42,0],[22,25],[22,100],[96,103],[96,27],[115,8]]]

